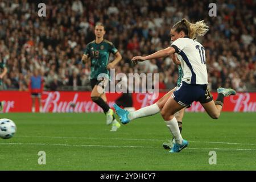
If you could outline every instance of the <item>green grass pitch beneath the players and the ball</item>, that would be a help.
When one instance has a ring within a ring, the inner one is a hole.
[[[102,113],[9,113],[18,131],[0,139],[0,170],[256,170],[256,114],[185,113],[177,154],[162,147],[170,133],[159,114],[110,132]],[[39,165],[39,151],[46,164]],[[209,164],[216,151],[217,164]]]

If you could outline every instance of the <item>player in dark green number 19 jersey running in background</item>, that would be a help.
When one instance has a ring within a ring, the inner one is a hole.
[[[98,76],[101,73],[109,75],[109,69],[114,69],[115,65],[121,61],[122,56],[112,42],[104,39],[105,33],[104,25],[97,23],[94,29],[96,39],[87,44],[82,61],[86,62],[90,59],[91,63],[90,85],[92,86],[92,93],[90,97],[106,114],[106,124],[110,125],[112,123],[112,130],[110,131],[117,131],[120,124],[114,118],[114,111],[107,104],[106,94],[104,93],[104,86],[108,84],[108,79],[98,80]],[[109,63],[110,53],[115,56],[111,63]]]

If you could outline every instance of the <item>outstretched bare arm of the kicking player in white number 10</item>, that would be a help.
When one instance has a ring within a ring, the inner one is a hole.
[[[131,61],[144,61],[144,60],[150,60],[150,59],[158,59],[160,57],[171,56],[173,53],[175,53],[175,49],[173,47],[167,47],[165,49],[152,53],[151,55],[148,55],[148,56],[135,56],[133,57],[133,59],[131,59]]]

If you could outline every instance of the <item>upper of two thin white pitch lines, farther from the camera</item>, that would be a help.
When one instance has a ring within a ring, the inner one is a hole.
[[[49,137],[49,136],[17,136],[17,137],[31,137],[31,138],[67,138],[67,139],[105,139],[105,138],[96,138],[96,137]],[[164,141],[161,139],[139,139],[139,138],[108,138],[112,140],[138,140],[138,141]],[[235,144],[235,145],[248,145],[248,146],[256,146],[254,143],[231,143],[231,142],[210,142],[210,141],[190,141],[192,143],[216,143],[216,144]]]

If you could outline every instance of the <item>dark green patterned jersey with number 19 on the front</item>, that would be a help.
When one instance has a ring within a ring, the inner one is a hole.
[[[100,73],[109,75],[109,70],[106,68],[109,63],[110,53],[117,53],[117,48],[114,47],[112,42],[103,40],[97,44],[95,40],[87,44],[84,54],[90,57],[90,78],[97,78]]]

